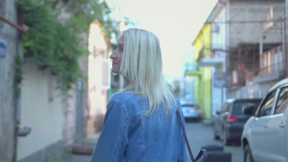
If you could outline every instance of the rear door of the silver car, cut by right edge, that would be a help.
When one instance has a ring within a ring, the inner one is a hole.
[[[288,107],[288,87],[280,90],[280,95],[274,108],[274,114],[267,123],[265,148],[270,162],[287,162],[286,120]],[[272,139],[272,140],[271,140]]]

